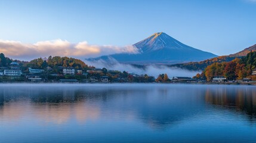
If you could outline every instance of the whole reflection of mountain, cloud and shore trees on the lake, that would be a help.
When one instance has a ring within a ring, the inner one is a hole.
[[[60,124],[115,118],[165,129],[203,116],[209,110],[205,102],[255,118],[255,91],[253,86],[0,86],[0,121],[30,116]]]

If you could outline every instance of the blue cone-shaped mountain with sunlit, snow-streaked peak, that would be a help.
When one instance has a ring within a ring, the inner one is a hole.
[[[165,33],[155,33],[133,46],[138,48],[137,54],[112,54],[88,60],[110,60],[128,64],[175,64],[188,61],[201,61],[218,57],[210,52],[201,51],[177,41]]]

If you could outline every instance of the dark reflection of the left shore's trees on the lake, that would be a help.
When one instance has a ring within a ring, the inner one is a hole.
[[[4,102],[30,99],[32,102],[38,103],[60,103],[60,102],[78,102],[84,100],[107,100],[113,98],[120,91],[111,89],[104,90],[87,90],[87,89],[1,89],[0,105]],[[122,91],[121,91],[122,92]]]

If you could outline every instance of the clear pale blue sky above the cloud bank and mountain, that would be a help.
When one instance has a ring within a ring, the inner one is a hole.
[[[155,32],[217,55],[256,43],[256,1],[0,0],[0,39],[125,46]]]

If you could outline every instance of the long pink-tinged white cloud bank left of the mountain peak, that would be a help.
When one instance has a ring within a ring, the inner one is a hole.
[[[61,39],[53,41],[41,41],[36,43],[22,43],[19,41],[0,40],[0,53],[18,60],[32,60],[38,57],[48,57],[50,55],[60,55],[67,57],[90,58],[100,55],[115,53],[137,53],[138,49],[132,45],[112,46],[112,45],[90,45],[83,41],[70,43]]]

